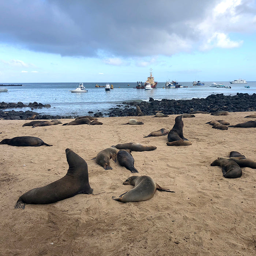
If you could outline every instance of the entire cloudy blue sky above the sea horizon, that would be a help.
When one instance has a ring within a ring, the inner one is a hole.
[[[256,0],[1,0],[0,83],[256,80]]]

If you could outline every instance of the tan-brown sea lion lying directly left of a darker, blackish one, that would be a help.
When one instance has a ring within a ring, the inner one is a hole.
[[[110,166],[110,159],[112,159],[116,163],[116,155],[117,155],[117,148],[115,147],[108,147],[103,150],[101,150],[96,157],[92,158],[96,159],[96,163],[103,166],[105,170],[112,170],[112,167]]]

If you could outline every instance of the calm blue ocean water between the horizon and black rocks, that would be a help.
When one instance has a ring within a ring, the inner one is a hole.
[[[231,89],[209,87],[212,82],[223,83],[231,86]],[[248,82],[248,81],[247,81]],[[8,84],[8,83],[5,83]],[[0,93],[0,102],[41,102],[50,104],[51,108],[34,109],[41,114],[61,115],[61,116],[82,116],[89,111],[102,112],[107,116],[110,108],[116,105],[124,105],[128,101],[148,101],[149,98],[161,99],[192,99],[206,98],[210,94],[223,93],[224,95],[236,95],[237,93],[256,93],[256,81],[248,82],[250,88],[245,88],[244,84],[230,84],[223,81],[204,82],[204,86],[192,86],[192,82],[179,82],[184,88],[164,89],[165,82],[158,82],[157,88],[144,90],[134,88],[137,83],[110,83],[114,89],[105,91],[104,87],[95,87],[96,83],[84,83],[88,93],[71,93],[69,90],[75,89],[79,83],[14,83],[24,86],[1,86],[1,89],[8,89],[7,93]],[[105,85],[106,83],[97,83]],[[128,86],[129,84],[129,86]],[[12,109],[5,109],[12,110]],[[30,108],[16,108],[19,110],[31,110]]]

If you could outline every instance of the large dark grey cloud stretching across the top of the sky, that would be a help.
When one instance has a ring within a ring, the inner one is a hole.
[[[219,2],[1,1],[0,42],[62,56],[172,55],[201,40],[198,25]]]

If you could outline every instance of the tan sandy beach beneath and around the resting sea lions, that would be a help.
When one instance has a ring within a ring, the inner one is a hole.
[[[255,120],[248,112],[229,116],[196,114],[182,118],[191,146],[170,147],[167,136],[148,137],[172,128],[172,115],[136,117],[144,125],[121,125],[134,117],[98,118],[103,125],[22,127],[27,121],[0,120],[0,139],[36,136],[52,147],[0,145],[0,255],[255,255],[256,170],[226,179],[217,157],[238,151],[256,160],[256,128],[212,129],[207,121],[230,124]],[[63,123],[70,120],[62,120]],[[118,162],[104,170],[90,160],[117,143],[139,142],[154,151],[132,152],[139,173],[176,193],[157,191],[143,202],[112,200],[132,188],[123,181],[133,174]],[[88,164],[89,182],[97,195],[79,194],[53,204],[26,204],[19,196],[63,177],[71,148]]]

